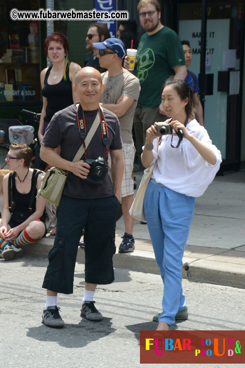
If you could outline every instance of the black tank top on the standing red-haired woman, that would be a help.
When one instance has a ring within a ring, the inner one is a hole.
[[[46,72],[42,95],[47,98],[46,116],[44,117],[47,123],[50,122],[57,111],[63,110],[65,107],[73,104],[69,68],[70,65],[66,70],[67,81],[65,81],[63,77],[57,84],[48,84],[47,82],[52,66],[50,66]]]

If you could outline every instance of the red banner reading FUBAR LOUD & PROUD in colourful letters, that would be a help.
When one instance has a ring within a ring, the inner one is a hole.
[[[141,331],[142,363],[245,363],[245,331]]]

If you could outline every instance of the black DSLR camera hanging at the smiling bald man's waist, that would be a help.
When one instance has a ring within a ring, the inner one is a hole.
[[[96,160],[86,159],[84,162],[90,165],[90,170],[86,179],[88,184],[101,185],[108,172],[108,165],[104,163],[103,157],[97,157]]]

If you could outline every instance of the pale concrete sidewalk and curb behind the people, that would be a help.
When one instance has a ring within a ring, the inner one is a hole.
[[[142,172],[135,173],[137,187]],[[136,190],[135,190],[136,193]],[[194,218],[183,257],[183,277],[189,280],[245,287],[245,171],[217,176],[202,197],[196,198]],[[123,217],[117,222],[116,246],[124,234]],[[159,274],[146,224],[135,220],[135,251],[113,257],[115,268]],[[26,254],[47,256],[54,236],[47,234]],[[84,263],[84,250],[77,261]]]

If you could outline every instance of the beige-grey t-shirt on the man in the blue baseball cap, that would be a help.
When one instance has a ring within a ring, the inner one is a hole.
[[[134,112],[139,98],[139,91],[141,89],[139,79],[132,75],[128,70],[124,70],[122,73],[115,75],[114,77],[111,77],[108,74],[108,71],[102,73],[101,76],[105,88],[103,94],[100,96],[100,102],[116,103],[122,95],[134,98],[134,102],[129,109],[123,116],[119,117],[123,143],[132,144]]]

